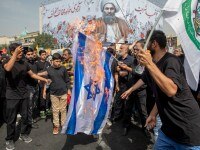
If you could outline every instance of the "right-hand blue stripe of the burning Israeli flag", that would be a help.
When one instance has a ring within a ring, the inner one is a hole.
[[[106,95],[105,89],[106,88],[108,90],[110,89],[110,82],[111,82],[111,80],[110,80],[111,79],[111,70],[109,68],[110,58],[111,58],[111,54],[106,52],[106,59],[105,59],[105,63],[104,63],[104,71],[105,71],[104,94],[103,94],[103,98],[101,101],[101,105],[99,107],[98,115],[94,121],[94,128],[93,128],[92,134],[97,134],[99,128],[101,127],[102,122],[105,119],[105,115],[106,115],[107,108],[108,108],[107,100],[106,100],[107,95]]]

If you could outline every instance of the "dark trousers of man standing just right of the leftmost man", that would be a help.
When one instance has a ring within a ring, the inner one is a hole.
[[[29,102],[28,102],[28,123],[32,124],[33,116],[36,116],[36,114],[33,114],[37,110],[37,101],[39,96],[39,90],[38,87],[33,86],[27,86],[27,89],[29,91]],[[34,111],[35,110],[35,111]]]

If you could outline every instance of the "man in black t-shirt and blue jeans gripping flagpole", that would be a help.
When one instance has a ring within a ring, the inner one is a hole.
[[[141,50],[138,54],[146,71],[131,91],[147,83],[155,95],[156,104],[146,121],[146,126],[153,128],[159,113],[162,127],[155,149],[200,149],[199,106],[186,82],[181,61],[167,53],[165,47],[165,34],[154,31],[148,46],[150,51]],[[124,93],[122,98],[129,94]]]

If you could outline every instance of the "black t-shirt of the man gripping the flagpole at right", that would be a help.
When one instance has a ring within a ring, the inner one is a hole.
[[[166,53],[156,65],[178,87],[176,95],[168,97],[155,84],[148,71],[142,77],[155,95],[162,121],[161,130],[178,143],[200,145],[200,109],[189,89],[180,59]]]

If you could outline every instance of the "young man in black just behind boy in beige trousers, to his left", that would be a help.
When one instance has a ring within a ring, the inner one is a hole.
[[[39,51],[40,58],[36,62],[37,65],[37,72],[44,72],[47,70],[48,67],[51,66],[51,64],[46,61],[47,54],[45,50],[40,50]],[[44,76],[45,77],[45,76]],[[46,118],[46,114],[50,114],[50,99],[49,99],[49,90],[47,90],[47,97],[46,99],[43,98],[43,89],[44,89],[44,84],[39,83],[39,106],[40,107],[40,117],[42,119]]]

